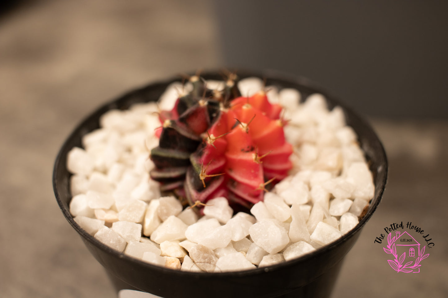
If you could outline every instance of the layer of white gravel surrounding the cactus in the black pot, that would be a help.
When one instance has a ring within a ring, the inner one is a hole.
[[[176,101],[178,85],[161,97],[164,110]],[[263,84],[249,78],[239,86],[242,94],[253,94]],[[268,98],[284,106],[291,119],[285,137],[294,146],[293,169],[251,215],[233,216],[227,200],[215,198],[198,219],[176,198],[160,197],[159,183],[148,175],[160,125],[152,102],[108,111],[101,128],[83,137],[84,148],[69,152],[67,168],[74,174],[69,207],[75,221],[117,251],[196,272],[268,266],[336,241],[358,224],[375,192],[357,136],[346,126],[342,109],[329,111],[321,94],[299,103],[297,90],[272,88]]]

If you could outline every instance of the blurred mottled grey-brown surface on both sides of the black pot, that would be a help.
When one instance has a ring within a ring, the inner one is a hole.
[[[0,296],[114,297],[52,191],[52,165],[87,113],[160,77],[221,65],[206,0],[40,1],[0,18]],[[412,88],[412,86],[409,86]],[[374,119],[388,152],[382,204],[347,255],[333,298],[447,297],[448,123]],[[431,237],[418,274],[393,271],[383,228]]]

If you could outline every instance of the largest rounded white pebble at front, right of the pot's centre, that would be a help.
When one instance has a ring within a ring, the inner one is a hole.
[[[250,227],[249,234],[255,244],[270,254],[281,251],[289,243],[284,228],[270,219],[258,221]]]

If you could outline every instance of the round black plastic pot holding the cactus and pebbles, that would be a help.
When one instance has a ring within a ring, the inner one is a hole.
[[[375,197],[366,215],[352,231],[336,242],[322,247],[296,260],[241,272],[194,273],[175,271],[134,259],[100,243],[73,221],[69,213],[71,199],[66,168],[67,153],[74,146],[81,146],[86,133],[99,128],[99,117],[110,109],[125,110],[137,102],[156,101],[169,84],[180,79],[171,79],[147,85],[131,91],[120,98],[101,106],[88,116],[65,141],[56,158],[53,172],[53,187],[56,200],[70,225],[81,235],[89,251],[106,268],[117,290],[138,289],[164,298],[209,298],[209,297],[328,297],[336,281],[342,260],[353,247],[362,227],[378,206],[387,179],[388,163],[380,140],[365,120],[349,108],[341,105],[331,94],[305,78],[285,75],[274,71],[238,72],[241,78],[266,78],[267,85],[279,88],[298,89],[303,97],[312,93],[326,96],[330,108],[339,105],[345,111],[347,123],[359,137],[362,149],[374,173]],[[217,72],[202,73],[205,79],[220,80]],[[366,281],[368,282],[368,281]]]

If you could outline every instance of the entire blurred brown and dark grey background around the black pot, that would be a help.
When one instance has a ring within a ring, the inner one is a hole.
[[[52,165],[90,111],[198,68],[291,72],[366,115],[389,158],[383,202],[333,298],[448,297],[448,2],[9,0],[0,4],[0,293],[114,297],[60,212]],[[435,243],[397,274],[375,237],[412,221]]]

